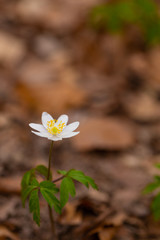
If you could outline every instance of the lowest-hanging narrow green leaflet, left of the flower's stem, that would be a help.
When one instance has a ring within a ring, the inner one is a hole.
[[[38,198],[38,189],[34,190],[30,194],[29,209],[33,213],[33,220],[40,226],[40,207]]]

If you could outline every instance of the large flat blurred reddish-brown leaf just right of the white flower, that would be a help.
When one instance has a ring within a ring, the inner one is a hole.
[[[135,143],[132,124],[119,118],[90,117],[81,121],[79,130],[80,134],[73,141],[79,151],[123,150]]]

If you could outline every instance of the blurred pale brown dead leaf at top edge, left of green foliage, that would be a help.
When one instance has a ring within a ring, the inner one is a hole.
[[[66,32],[75,29],[81,23],[84,14],[101,0],[90,0],[78,3],[65,0],[23,0],[17,4],[18,17],[27,23],[39,24],[58,32]],[[70,12],[72,9],[72,14]]]

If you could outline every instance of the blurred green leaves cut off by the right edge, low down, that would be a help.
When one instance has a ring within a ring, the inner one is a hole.
[[[155,165],[156,168],[160,169],[160,164]],[[154,196],[154,199],[151,204],[151,209],[154,215],[155,220],[160,219],[160,176],[156,175],[154,176],[153,182],[149,183],[145,189],[143,190],[144,194],[152,193],[153,191],[156,191],[156,194]]]

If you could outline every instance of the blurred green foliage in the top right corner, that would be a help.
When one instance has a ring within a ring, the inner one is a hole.
[[[159,7],[153,0],[119,0],[101,4],[91,10],[90,20],[96,29],[124,33],[137,26],[148,44],[160,42]]]

